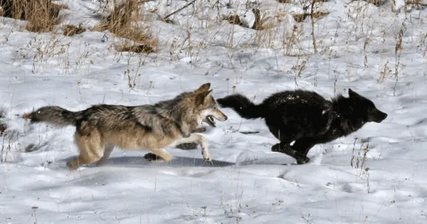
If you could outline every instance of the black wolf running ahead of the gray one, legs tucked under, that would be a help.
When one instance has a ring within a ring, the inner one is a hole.
[[[265,119],[270,132],[280,140],[271,151],[287,154],[296,159],[297,164],[305,164],[310,161],[307,153],[315,144],[345,137],[367,122],[379,123],[386,119],[387,114],[378,110],[371,100],[352,89],[348,93],[349,97],[337,95],[331,101],[316,92],[294,90],[276,92],[259,105],[241,94],[228,95],[216,102],[245,119]]]

